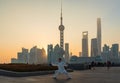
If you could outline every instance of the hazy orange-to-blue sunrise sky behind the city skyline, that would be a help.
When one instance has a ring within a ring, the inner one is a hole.
[[[96,37],[96,19],[102,22],[102,47],[120,44],[119,0],[63,0],[63,17],[66,27],[64,42],[70,52],[82,51],[81,33],[89,32],[90,40]],[[0,63],[10,62],[22,47],[35,45],[47,49],[48,44],[59,44],[60,0],[0,1]]]

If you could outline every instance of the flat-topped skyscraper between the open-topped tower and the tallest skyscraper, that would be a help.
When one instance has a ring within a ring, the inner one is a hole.
[[[97,38],[91,39],[91,56],[97,56],[98,48],[97,48]]]

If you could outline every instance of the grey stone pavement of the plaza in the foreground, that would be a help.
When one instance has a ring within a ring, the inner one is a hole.
[[[74,71],[70,75],[72,79],[69,80],[64,75],[53,79],[53,74],[29,77],[0,76],[0,83],[120,83],[120,67],[112,67],[109,71],[106,67],[97,67],[95,70]]]

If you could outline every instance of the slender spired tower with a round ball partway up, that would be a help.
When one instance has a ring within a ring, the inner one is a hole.
[[[64,25],[63,25],[63,17],[62,17],[62,3],[61,3],[61,17],[60,17],[60,47],[64,49]]]

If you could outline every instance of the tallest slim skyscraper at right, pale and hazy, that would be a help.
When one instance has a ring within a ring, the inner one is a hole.
[[[97,18],[97,47],[98,55],[101,55],[101,18]]]

